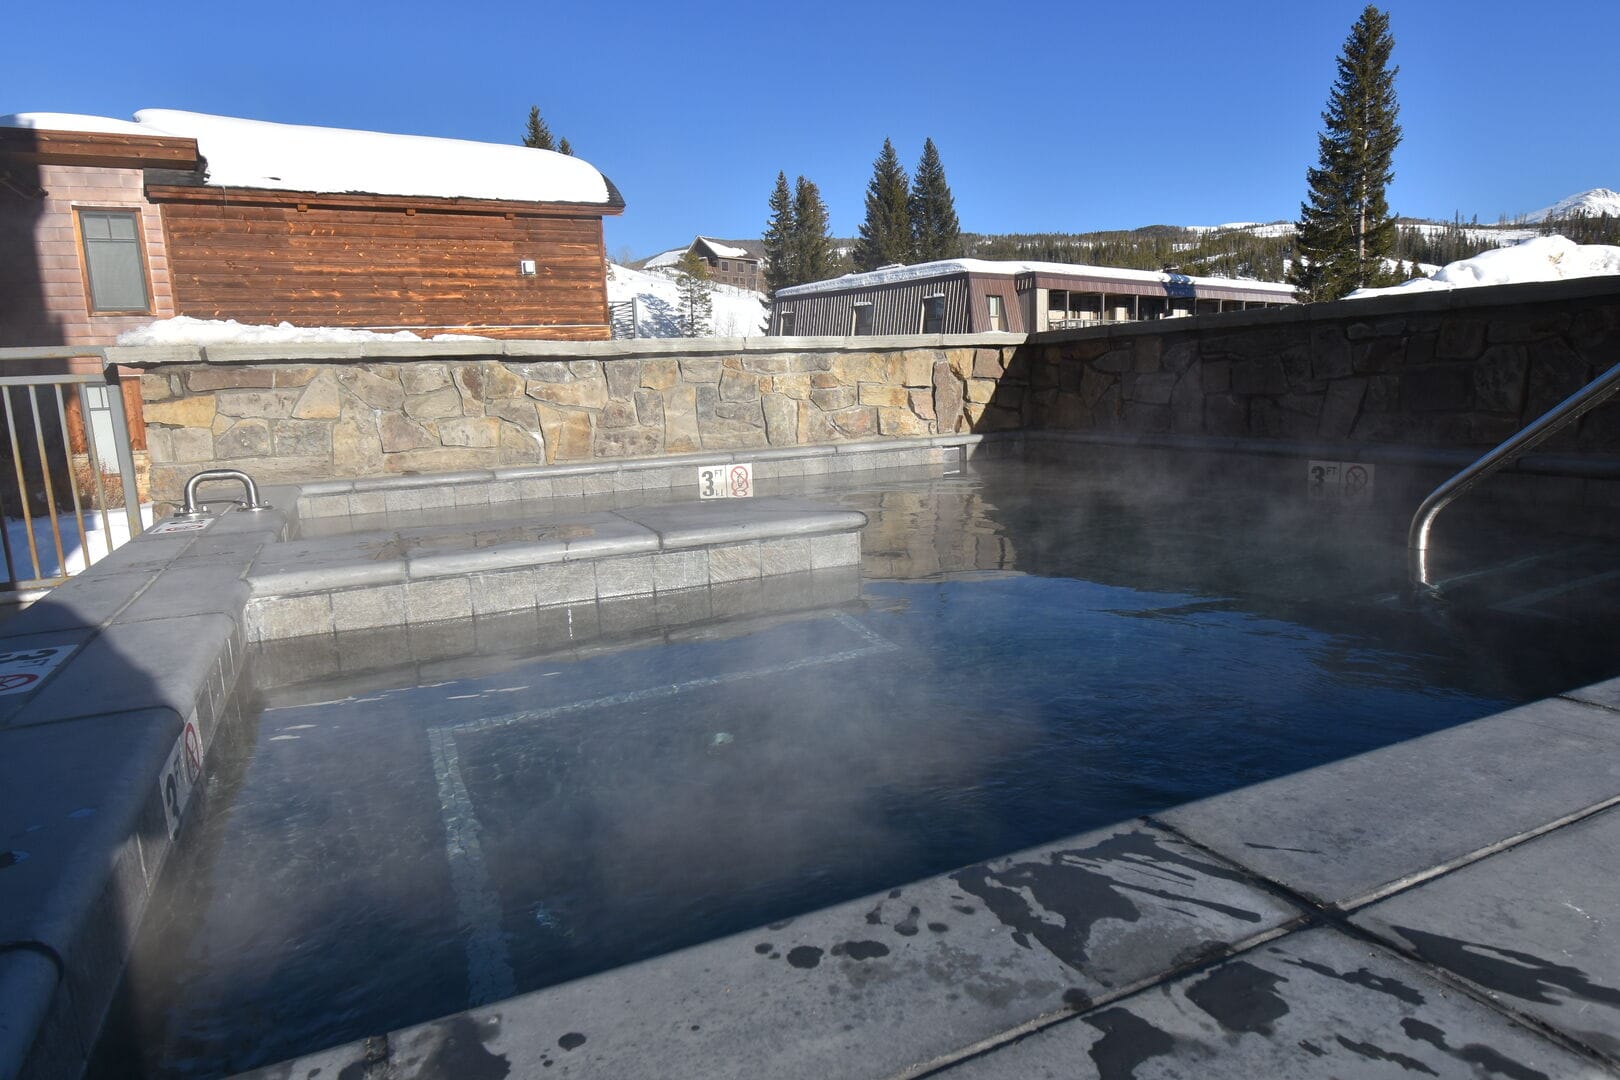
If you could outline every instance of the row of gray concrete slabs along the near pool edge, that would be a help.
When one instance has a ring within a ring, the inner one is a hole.
[[[1620,695],[1620,680],[1591,693]],[[1157,988],[1324,933],[1486,1018],[1490,1030],[1443,1031],[1452,1044],[1534,1043],[1558,1075],[1604,1075],[1620,1057],[1349,920],[1571,824],[1620,832],[1617,750],[1620,714],[1549,698],[245,1077],[369,1064],[429,1080],[454,1075],[433,1065],[449,1046],[512,1075],[565,1062],[616,1080],[876,1078],[969,1061],[966,1075],[1032,1075],[998,1070],[996,1052],[1040,1031],[1072,1041],[1071,1018],[1116,1017]],[[1528,784],[1549,772],[1557,784]]]

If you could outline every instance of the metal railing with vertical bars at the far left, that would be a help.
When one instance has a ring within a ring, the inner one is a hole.
[[[6,374],[83,358],[99,371]],[[70,400],[78,403],[78,427],[70,426]],[[0,465],[0,599],[62,585],[141,533],[130,423],[118,376],[105,369],[100,350],[0,348],[0,455],[11,458],[8,470]],[[83,436],[81,453],[75,434]]]

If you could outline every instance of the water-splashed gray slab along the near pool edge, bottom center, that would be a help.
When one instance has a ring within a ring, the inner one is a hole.
[[[889,1077],[1278,933],[1296,912],[1140,824],[932,878],[389,1036],[403,1077],[457,1038],[510,1074]],[[363,1069],[364,1043],[262,1077]]]

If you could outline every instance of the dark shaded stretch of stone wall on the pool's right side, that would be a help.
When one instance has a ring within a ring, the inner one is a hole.
[[[998,426],[1490,447],[1620,363],[1620,280],[1474,288],[1032,337],[967,397]],[[1620,450],[1620,406],[1549,450]]]

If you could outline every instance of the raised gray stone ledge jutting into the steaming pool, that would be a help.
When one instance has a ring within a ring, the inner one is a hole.
[[[855,510],[773,497],[274,544],[248,572],[248,638],[497,615],[852,567],[865,525]]]

